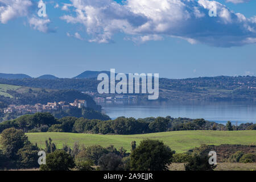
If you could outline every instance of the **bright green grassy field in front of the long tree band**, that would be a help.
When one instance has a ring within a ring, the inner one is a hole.
[[[151,133],[141,135],[100,135],[100,134],[76,134],[76,133],[27,133],[28,139],[32,143],[38,143],[40,147],[45,147],[45,140],[49,137],[57,148],[62,148],[63,144],[73,146],[79,142],[85,146],[100,144],[109,146],[113,144],[116,148],[124,147],[130,151],[130,143],[135,140],[137,144],[144,139],[159,139],[175,150],[177,153],[185,152],[201,144],[256,144],[256,131],[170,131],[164,133]]]

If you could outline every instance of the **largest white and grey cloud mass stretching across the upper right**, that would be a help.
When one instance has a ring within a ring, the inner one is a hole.
[[[216,1],[208,0],[71,0],[72,12],[61,17],[67,23],[79,23],[91,39],[108,43],[118,32],[127,40],[146,42],[176,37],[189,43],[210,46],[242,46],[254,43],[256,18],[235,14]],[[212,4],[217,17],[208,12]],[[130,38],[129,38],[130,37]]]

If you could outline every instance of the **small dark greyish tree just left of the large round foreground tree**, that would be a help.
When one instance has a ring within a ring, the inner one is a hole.
[[[123,169],[122,158],[113,153],[102,155],[98,160],[98,165],[100,165],[101,171],[121,171]]]

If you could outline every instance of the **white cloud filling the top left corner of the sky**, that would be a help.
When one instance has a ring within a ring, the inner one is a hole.
[[[7,23],[11,19],[27,16],[32,5],[30,0],[0,0],[0,22]]]

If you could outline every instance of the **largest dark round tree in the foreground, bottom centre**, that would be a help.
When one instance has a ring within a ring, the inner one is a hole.
[[[131,152],[131,169],[136,171],[166,171],[175,152],[159,140],[144,139]]]

